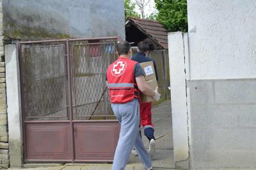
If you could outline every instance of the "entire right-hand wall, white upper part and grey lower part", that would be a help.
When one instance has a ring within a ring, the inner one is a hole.
[[[188,0],[192,169],[256,167],[255,8]]]

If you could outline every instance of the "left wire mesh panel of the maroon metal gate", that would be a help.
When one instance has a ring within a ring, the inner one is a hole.
[[[68,120],[64,44],[22,45],[26,120]]]

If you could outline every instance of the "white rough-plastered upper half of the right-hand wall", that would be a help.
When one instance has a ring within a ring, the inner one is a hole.
[[[192,80],[256,77],[255,0],[188,0],[188,26]]]

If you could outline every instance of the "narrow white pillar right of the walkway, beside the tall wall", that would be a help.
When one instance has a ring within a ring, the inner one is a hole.
[[[186,106],[186,75],[184,72],[184,42],[181,32],[168,34],[170,87],[172,98],[174,160],[189,158],[188,114]],[[188,54],[188,48],[185,49]]]

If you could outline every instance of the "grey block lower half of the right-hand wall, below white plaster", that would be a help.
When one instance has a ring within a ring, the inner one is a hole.
[[[256,167],[256,79],[190,81],[193,168]]]

